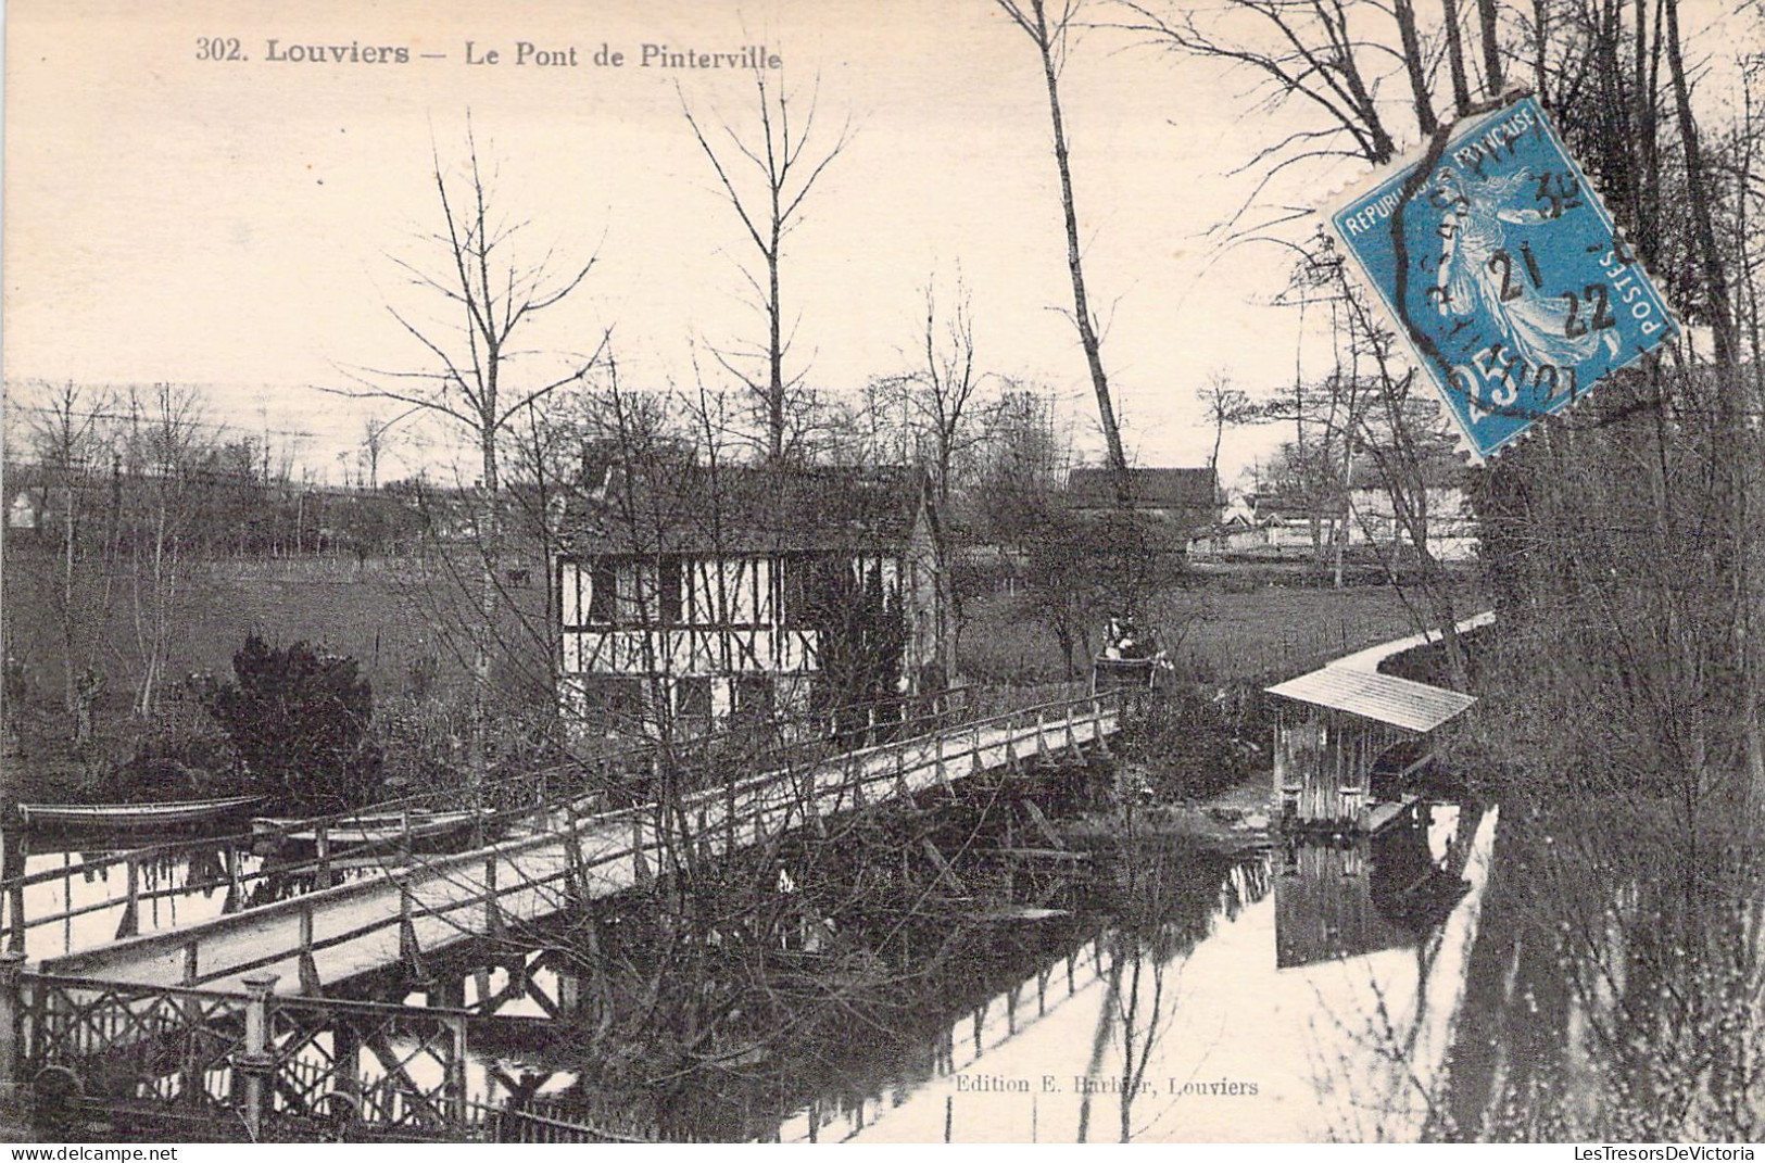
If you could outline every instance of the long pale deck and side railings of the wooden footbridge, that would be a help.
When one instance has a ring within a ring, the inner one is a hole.
[[[808,768],[732,777],[665,805],[582,812],[567,803],[524,837],[432,856],[383,877],[150,934],[53,960],[56,972],[201,985],[267,967],[300,965],[319,987],[318,962],[364,972],[432,948],[537,919],[665,872],[688,854],[720,856],[867,803],[918,794],[988,768],[1101,741],[1121,695],[1024,708],[955,729],[842,754]],[[334,949],[349,946],[339,957]]]

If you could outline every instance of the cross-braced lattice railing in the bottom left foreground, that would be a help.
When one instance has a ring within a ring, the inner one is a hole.
[[[351,1133],[480,1138],[512,1091],[468,1069],[485,1018],[466,1009],[125,985],[0,965],[0,1087],[37,1096],[48,1122],[104,1112],[210,1124],[251,1138]],[[468,1089],[469,1085],[477,1089]],[[44,1128],[53,1129],[53,1128]]]

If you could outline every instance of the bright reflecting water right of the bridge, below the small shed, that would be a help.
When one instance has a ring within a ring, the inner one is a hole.
[[[1414,828],[1363,847],[1326,842],[1250,861],[1128,852],[1103,886],[1108,925],[1084,946],[1070,988],[1048,995],[1040,976],[1025,981],[1031,1017],[981,1038],[981,1017],[1004,1009],[1006,994],[955,1020],[948,1041],[962,1050],[935,1077],[879,1078],[863,1099],[814,1103],[778,1133],[1419,1137],[1493,837],[1493,812],[1423,808]]]

